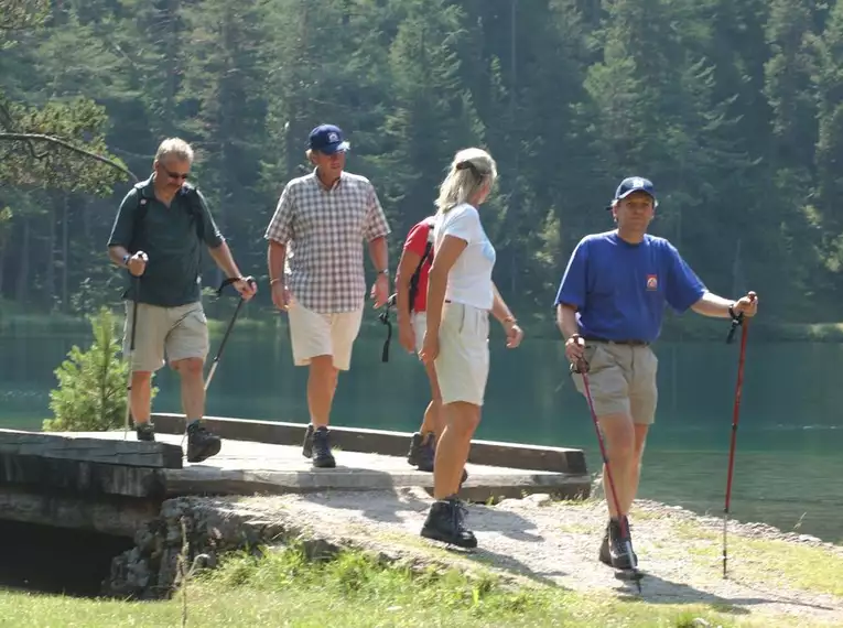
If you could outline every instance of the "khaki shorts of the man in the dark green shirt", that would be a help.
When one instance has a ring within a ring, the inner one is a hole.
[[[134,304],[126,302],[123,355],[130,355]],[[138,326],[134,331],[132,370],[154,372],[164,366],[164,356],[172,364],[186,358],[205,359],[208,355],[208,322],[201,302],[176,307],[138,303]]]

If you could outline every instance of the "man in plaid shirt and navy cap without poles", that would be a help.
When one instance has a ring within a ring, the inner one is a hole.
[[[293,361],[309,366],[311,422],[302,453],[313,466],[336,466],[328,419],[337,376],[348,370],[360,331],[366,274],[363,242],[378,272],[375,307],[389,297],[389,225],[375,187],[344,171],[348,142],[333,124],[311,131],[311,174],[290,181],[267,227],[272,302],[290,316]]]

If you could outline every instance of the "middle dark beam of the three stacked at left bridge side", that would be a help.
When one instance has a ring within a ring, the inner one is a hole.
[[[87,497],[119,495],[160,498],[166,491],[166,478],[160,468],[0,452],[0,487],[6,485]]]

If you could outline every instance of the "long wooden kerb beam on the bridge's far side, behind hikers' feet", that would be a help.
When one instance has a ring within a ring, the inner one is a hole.
[[[155,430],[166,434],[184,433],[183,414],[158,412],[152,415]],[[301,445],[306,425],[281,421],[253,421],[207,416],[208,429],[223,438],[255,441],[275,445]],[[385,456],[407,456],[409,432],[333,426],[332,443],[346,452],[365,452]],[[586,474],[585,453],[570,447],[549,447],[497,441],[472,441],[468,462],[478,465]]]

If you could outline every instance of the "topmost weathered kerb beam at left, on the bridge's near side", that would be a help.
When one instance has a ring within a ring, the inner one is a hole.
[[[105,434],[105,433],[104,433]],[[40,456],[128,467],[182,468],[182,448],[170,443],[138,441],[130,432],[127,440],[78,437],[73,433],[23,432],[0,430],[0,454]]]

